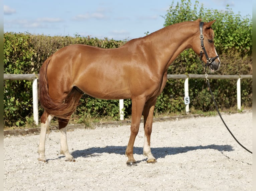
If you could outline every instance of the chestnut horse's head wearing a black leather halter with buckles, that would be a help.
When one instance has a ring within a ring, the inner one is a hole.
[[[200,22],[198,25],[199,33],[196,34],[193,40],[192,49],[206,63],[205,70],[208,66],[211,71],[217,71],[221,62],[214,46],[214,31],[211,27],[216,20],[209,23],[201,22],[201,19],[198,19],[198,21]]]

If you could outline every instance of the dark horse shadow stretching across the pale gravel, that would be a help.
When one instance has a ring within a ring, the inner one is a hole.
[[[124,155],[125,154],[126,146],[106,146],[106,147],[91,147],[84,150],[75,150],[71,154],[74,158],[78,157],[93,157],[99,155],[101,153],[115,153]],[[185,153],[192,150],[198,149],[215,149],[218,151],[233,151],[234,149],[230,145],[206,145],[206,146],[185,146],[185,147],[156,147],[151,148],[151,152],[154,157],[157,158],[164,158],[167,155],[175,155],[179,153]],[[143,154],[142,147],[134,147],[133,148],[134,154]]]

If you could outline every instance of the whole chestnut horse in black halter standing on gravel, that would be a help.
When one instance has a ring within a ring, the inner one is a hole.
[[[220,59],[211,28],[215,21],[204,23],[198,19],[177,23],[115,49],[70,45],[49,56],[40,69],[39,101],[44,113],[41,116],[38,160],[46,162],[46,129],[53,116],[58,118],[60,153],[65,155],[66,161],[74,160],[68,149],[67,124],[85,93],[100,99],[130,98],[132,119],[126,163],[128,166],[136,165],[133,146],[142,113],[145,132],[143,155],[148,163],[156,162],[150,149],[152,118],[156,98],[167,81],[167,69],[183,50],[192,48],[210,70],[218,70]]]

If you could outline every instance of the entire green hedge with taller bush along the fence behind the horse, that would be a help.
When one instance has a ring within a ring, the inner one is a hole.
[[[194,8],[197,8],[195,5]],[[175,8],[170,6],[165,16],[165,26],[185,20],[198,18],[191,8],[189,0],[181,0]],[[251,19],[234,15],[230,9],[220,14],[214,10],[200,9],[205,21],[217,21],[215,46],[221,59],[221,68],[215,74],[235,75],[252,74],[252,22]],[[183,11],[183,12],[182,12]],[[175,13],[174,13],[175,12]],[[190,15],[189,15],[190,14]],[[199,14],[199,15],[200,15]],[[212,15],[211,15],[212,14]],[[226,15],[225,20],[223,16]],[[208,19],[209,18],[209,19]],[[232,21],[232,22],[228,22]],[[241,26],[242,27],[237,27]],[[226,30],[224,30],[226,29]],[[227,30],[228,29],[228,30]],[[233,30],[231,30],[233,29]],[[225,35],[224,35],[225,34]],[[241,35],[242,34],[242,35]],[[238,39],[234,39],[238,38]],[[242,43],[241,43],[242,42]],[[4,33],[4,73],[31,74],[38,73],[43,61],[58,49],[71,44],[87,44],[102,48],[117,48],[126,41],[97,39],[90,37],[62,37],[31,35],[29,33]],[[168,74],[203,74],[202,64],[192,50],[183,51],[168,69]],[[211,89],[220,109],[236,106],[236,80],[210,80]],[[4,126],[21,126],[31,124],[32,118],[31,81],[4,81]],[[241,98],[243,107],[252,106],[252,80],[241,81]],[[205,80],[189,79],[190,110],[215,110]],[[158,97],[155,112],[184,113],[184,80],[168,80],[163,93]],[[95,120],[102,117],[119,118],[118,100],[103,100],[83,95],[81,103],[74,114],[77,122],[85,122],[87,117]],[[131,114],[131,100],[125,99],[125,117]],[[39,115],[43,110],[39,109]]]

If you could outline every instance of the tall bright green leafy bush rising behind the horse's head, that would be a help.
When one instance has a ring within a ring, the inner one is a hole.
[[[205,22],[217,19],[213,25],[215,32],[215,47],[218,54],[233,51],[240,56],[252,55],[252,18],[247,15],[242,17],[240,14],[234,14],[229,5],[225,11],[217,9],[206,9],[199,1],[192,7],[190,0],[181,0],[177,5],[172,4],[163,16],[164,26],[183,21],[194,21],[198,18]]]

